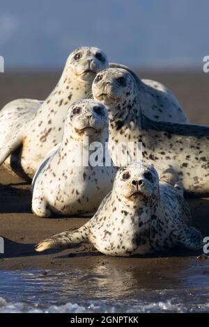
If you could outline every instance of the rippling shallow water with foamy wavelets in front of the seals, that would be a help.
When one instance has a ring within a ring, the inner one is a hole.
[[[208,271],[141,276],[136,270],[0,271],[0,312],[208,312]]]

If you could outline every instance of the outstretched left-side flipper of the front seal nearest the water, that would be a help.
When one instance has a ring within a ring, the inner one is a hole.
[[[49,250],[50,248],[70,248],[75,244],[88,243],[89,242],[89,223],[76,230],[75,232],[62,232],[56,234],[50,239],[40,242],[36,246],[37,252]]]

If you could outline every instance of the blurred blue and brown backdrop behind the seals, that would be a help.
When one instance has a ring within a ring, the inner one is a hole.
[[[166,84],[191,122],[209,124],[208,13],[208,0],[0,0],[0,108],[45,99],[68,54],[93,45]]]

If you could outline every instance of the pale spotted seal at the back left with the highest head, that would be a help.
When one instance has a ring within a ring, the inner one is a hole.
[[[20,177],[33,178],[45,154],[61,142],[69,105],[88,97],[95,75],[108,65],[106,55],[96,47],[75,49],[68,57],[56,87],[45,102],[37,105],[35,112],[28,106],[29,113],[24,109],[26,113],[22,115],[21,99],[18,106],[10,103],[2,109],[0,164],[6,161],[6,168]],[[12,156],[8,158],[10,154]]]

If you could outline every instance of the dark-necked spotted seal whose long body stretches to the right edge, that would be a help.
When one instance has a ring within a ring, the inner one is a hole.
[[[109,149],[116,166],[123,166],[115,154],[118,144],[140,142],[142,160],[150,162],[161,175],[172,167],[180,176],[186,193],[209,194],[209,127],[156,122],[139,110],[139,86],[126,70],[111,68],[93,81],[93,97],[109,112]],[[134,157],[130,161],[137,161]],[[130,162],[129,161],[129,162]]]

